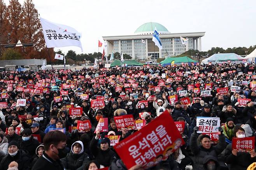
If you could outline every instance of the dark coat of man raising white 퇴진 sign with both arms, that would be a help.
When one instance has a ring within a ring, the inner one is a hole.
[[[207,155],[217,156],[225,149],[226,142],[223,134],[219,135],[219,143],[216,146],[211,146],[210,149],[205,149],[202,146],[198,146],[196,143],[197,134],[193,133],[190,137],[190,149],[195,155],[195,169],[204,170],[203,159]]]

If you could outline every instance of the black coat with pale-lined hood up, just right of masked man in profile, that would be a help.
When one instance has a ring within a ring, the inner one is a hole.
[[[82,149],[79,154],[75,154],[73,147],[75,143],[79,143],[82,146]],[[84,153],[84,145],[81,141],[74,142],[71,146],[70,153],[63,159],[61,159],[64,167],[67,170],[83,170],[86,163],[90,161],[90,158],[87,153]]]

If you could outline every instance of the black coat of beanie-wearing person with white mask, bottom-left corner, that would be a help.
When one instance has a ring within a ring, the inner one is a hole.
[[[0,170],[7,170],[9,164],[12,161],[16,161],[18,163],[19,170],[30,170],[30,161],[28,154],[23,150],[18,150],[18,153],[15,156],[7,155],[0,162]]]

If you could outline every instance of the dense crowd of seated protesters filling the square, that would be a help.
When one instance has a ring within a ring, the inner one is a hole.
[[[142,113],[149,124],[166,110],[174,121],[185,121],[182,138],[186,144],[149,169],[246,170],[249,166],[254,169],[255,151],[238,152],[232,149],[231,142],[233,137],[255,136],[256,88],[251,83],[256,80],[255,71],[253,63],[232,62],[128,68],[100,65],[77,71],[55,70],[55,76],[51,70],[3,71],[0,73],[0,102],[7,102],[7,106],[0,108],[0,170],[96,170],[103,167],[126,170],[105,135],[120,135],[122,141],[136,130],[118,131],[114,116],[132,114],[138,120]],[[231,85],[240,90],[231,92]],[[229,88],[228,93],[217,93],[217,89],[223,87]],[[61,95],[60,90],[68,94]],[[182,90],[187,93],[181,96],[179,91]],[[210,95],[202,96],[204,90],[210,90]],[[87,94],[88,99],[81,99],[81,94]],[[60,95],[62,101],[54,101],[54,97]],[[149,100],[152,95],[153,99]],[[177,101],[171,102],[168,98],[171,95],[176,95]],[[105,107],[92,108],[90,101],[98,96],[104,97]],[[189,98],[190,104],[182,104],[184,97]],[[26,99],[26,105],[16,105],[18,99]],[[238,99],[251,101],[242,106]],[[145,100],[147,105],[138,105]],[[74,108],[81,107],[83,114],[71,116],[67,108],[70,104]],[[197,133],[198,116],[220,118],[217,142]],[[108,118],[109,132],[94,133],[100,118]],[[89,120],[91,129],[70,131],[78,120]],[[51,131],[51,128],[65,128],[65,132]],[[35,135],[40,136],[40,141]],[[140,168],[141,165],[137,165],[131,170]]]

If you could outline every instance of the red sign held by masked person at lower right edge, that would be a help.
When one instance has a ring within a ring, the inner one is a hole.
[[[232,138],[232,149],[238,152],[249,152],[254,149],[255,137]]]

